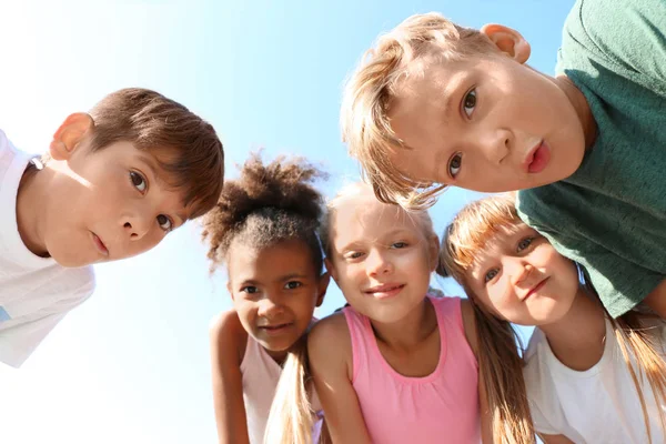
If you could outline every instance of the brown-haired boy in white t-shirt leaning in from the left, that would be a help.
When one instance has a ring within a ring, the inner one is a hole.
[[[91,264],[152,249],[224,175],[213,127],[145,89],[69,115],[42,160],[0,131],[0,362],[16,367],[90,296]]]

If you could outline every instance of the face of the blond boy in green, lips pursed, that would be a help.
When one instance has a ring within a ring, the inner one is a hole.
[[[579,167],[583,125],[554,79],[502,53],[431,62],[398,85],[389,117],[411,179],[482,192],[556,182]]]

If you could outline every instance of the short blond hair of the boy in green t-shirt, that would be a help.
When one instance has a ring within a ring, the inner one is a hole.
[[[485,34],[431,12],[407,18],[365,52],[344,90],[341,128],[350,154],[361,162],[380,201],[425,209],[445,188],[407,178],[386,157],[387,151],[410,149],[389,119],[398,81],[415,61],[444,62],[493,51],[496,48]]]

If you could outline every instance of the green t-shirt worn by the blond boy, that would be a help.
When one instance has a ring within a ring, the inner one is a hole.
[[[597,140],[566,180],[518,193],[521,218],[584,265],[613,317],[666,279],[666,1],[578,0],[557,72]]]

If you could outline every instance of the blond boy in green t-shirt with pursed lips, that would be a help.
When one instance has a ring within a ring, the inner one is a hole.
[[[415,16],[352,75],[344,139],[385,202],[522,190],[614,317],[645,301],[666,319],[665,33],[660,0],[578,0],[549,77],[511,28]]]

